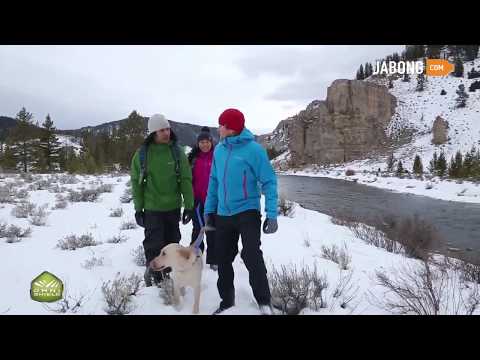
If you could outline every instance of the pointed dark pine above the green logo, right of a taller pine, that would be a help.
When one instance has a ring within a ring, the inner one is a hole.
[[[40,171],[53,171],[57,168],[60,157],[60,141],[55,135],[55,127],[50,115],[42,124],[35,168]]]

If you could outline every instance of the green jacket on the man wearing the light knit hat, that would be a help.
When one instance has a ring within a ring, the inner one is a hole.
[[[170,144],[151,143],[147,151],[147,182],[140,184],[139,150],[132,158],[130,177],[135,211],[169,211],[182,207],[193,209],[192,170],[187,156],[180,151],[180,184],[175,174],[175,160]]]

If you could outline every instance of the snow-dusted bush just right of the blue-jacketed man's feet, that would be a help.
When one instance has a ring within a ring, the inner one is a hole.
[[[268,273],[272,292],[272,305],[283,314],[298,315],[303,309],[325,308],[325,290],[328,282],[325,274],[319,275],[316,266],[311,270],[303,266],[297,270],[295,265],[281,265],[280,271],[275,267]]]

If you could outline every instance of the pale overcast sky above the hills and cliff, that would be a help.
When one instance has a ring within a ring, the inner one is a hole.
[[[235,107],[257,134],[323,100],[335,79],[404,45],[0,45],[0,115],[25,106],[58,129],[119,120],[137,110],[217,126]]]

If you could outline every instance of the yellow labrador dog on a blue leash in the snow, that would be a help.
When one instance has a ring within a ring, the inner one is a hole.
[[[198,314],[203,269],[201,252],[197,254],[193,245],[185,247],[180,244],[168,244],[160,255],[150,262],[150,267],[153,271],[172,268],[173,301],[176,307],[180,305],[180,295],[185,295],[185,287],[192,287],[195,297],[193,313]]]

